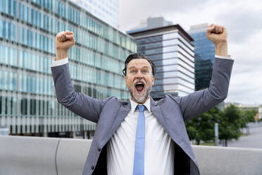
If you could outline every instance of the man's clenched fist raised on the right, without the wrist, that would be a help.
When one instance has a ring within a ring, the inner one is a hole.
[[[227,30],[222,25],[211,24],[206,29],[206,37],[215,45],[227,43]]]

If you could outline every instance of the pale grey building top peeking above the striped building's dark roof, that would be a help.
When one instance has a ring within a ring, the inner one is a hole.
[[[162,16],[159,17],[149,17],[146,20],[141,20],[139,25],[135,28],[130,29],[127,33],[139,32],[142,30],[148,30],[152,28],[161,28],[164,26],[173,25],[172,21],[165,20]]]

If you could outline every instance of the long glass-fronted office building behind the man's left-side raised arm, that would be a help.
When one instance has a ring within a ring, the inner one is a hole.
[[[95,129],[56,100],[50,66],[62,30],[75,32],[68,54],[75,91],[129,99],[121,73],[137,49],[132,37],[71,1],[0,0],[0,12],[0,126],[12,135],[69,137]]]

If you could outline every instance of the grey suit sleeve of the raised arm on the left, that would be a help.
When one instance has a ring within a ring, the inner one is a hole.
[[[68,64],[51,67],[51,71],[58,102],[75,114],[97,123],[105,101],[75,92],[70,79]]]

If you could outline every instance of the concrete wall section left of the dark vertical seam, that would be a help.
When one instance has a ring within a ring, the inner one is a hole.
[[[58,139],[0,136],[0,174],[56,174]]]

